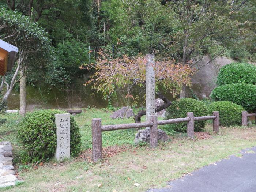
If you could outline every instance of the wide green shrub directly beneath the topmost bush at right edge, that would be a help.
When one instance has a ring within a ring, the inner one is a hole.
[[[233,83],[216,87],[210,94],[213,101],[230,101],[241,105],[249,113],[256,110],[256,86]]]

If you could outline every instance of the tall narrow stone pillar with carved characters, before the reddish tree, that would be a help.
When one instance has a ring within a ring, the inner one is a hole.
[[[155,56],[146,55],[146,121],[150,121],[150,116],[155,115]],[[149,129],[149,127],[146,127]]]

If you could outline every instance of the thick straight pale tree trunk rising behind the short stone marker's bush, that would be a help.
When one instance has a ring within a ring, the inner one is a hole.
[[[22,70],[19,71],[19,75],[22,77],[24,72]],[[19,83],[19,114],[21,116],[25,116],[27,110],[26,103],[26,75],[24,75],[20,79]]]

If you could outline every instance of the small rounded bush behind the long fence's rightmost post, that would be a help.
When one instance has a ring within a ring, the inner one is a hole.
[[[244,108],[230,101],[218,101],[209,105],[208,111],[212,114],[213,111],[219,112],[219,123],[222,126],[241,125],[242,111]]]

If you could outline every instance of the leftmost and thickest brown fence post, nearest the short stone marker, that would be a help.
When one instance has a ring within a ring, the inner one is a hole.
[[[93,118],[91,120],[91,136],[93,144],[93,162],[102,159],[102,133],[101,133],[101,119]]]

